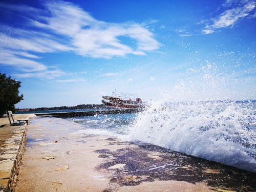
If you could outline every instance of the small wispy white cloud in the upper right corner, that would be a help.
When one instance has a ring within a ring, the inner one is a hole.
[[[245,17],[251,18],[255,14],[256,3],[254,1],[226,1],[223,7],[228,9],[208,21],[205,29],[202,30],[204,34],[213,33],[215,29],[232,27]]]

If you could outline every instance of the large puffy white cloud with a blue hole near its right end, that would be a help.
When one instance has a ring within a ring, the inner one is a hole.
[[[160,44],[153,33],[139,24],[113,24],[94,19],[78,6],[55,2],[45,4],[50,17],[42,17],[44,22],[33,20],[39,28],[69,36],[70,46],[77,54],[95,58],[111,58],[127,54],[145,55],[145,51],[158,49]],[[137,41],[137,48],[123,44],[118,37],[131,37]]]

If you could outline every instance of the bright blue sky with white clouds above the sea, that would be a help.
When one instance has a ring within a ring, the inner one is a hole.
[[[0,1],[0,72],[16,108],[256,99],[256,2]]]

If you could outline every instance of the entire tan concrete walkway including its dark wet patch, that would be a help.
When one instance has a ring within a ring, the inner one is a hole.
[[[15,191],[256,191],[256,174],[36,118]]]

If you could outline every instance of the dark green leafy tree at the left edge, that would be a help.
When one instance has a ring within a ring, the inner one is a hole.
[[[15,104],[23,100],[23,94],[19,96],[18,88],[20,81],[12,79],[11,76],[6,77],[6,74],[0,72],[0,116],[6,111],[15,112]]]

